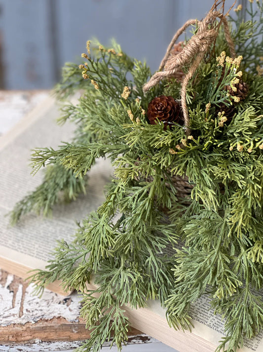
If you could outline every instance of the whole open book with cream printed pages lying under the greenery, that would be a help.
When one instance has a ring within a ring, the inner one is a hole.
[[[71,241],[76,229],[76,220],[96,209],[104,201],[104,185],[113,172],[108,160],[99,159],[89,172],[87,194],[70,204],[55,207],[52,218],[35,215],[25,216],[18,225],[8,226],[5,216],[28,192],[41,182],[38,172],[30,175],[30,153],[35,147],[57,147],[60,141],[68,141],[73,132],[71,124],[59,127],[54,101],[49,98],[35,108],[10,133],[0,137],[0,268],[21,277],[28,276],[28,270],[44,268],[51,257],[50,251],[56,241]],[[56,283],[49,289],[61,293]],[[88,289],[94,289],[87,284]],[[190,311],[194,329],[192,333],[175,331],[168,326],[165,309],[158,301],[150,301],[147,308],[131,309],[125,306],[130,324],[140,331],[162,341],[180,352],[213,352],[224,335],[220,316],[209,310],[209,298],[204,296],[195,302]],[[262,352],[263,333],[255,339],[245,341],[242,352]]]

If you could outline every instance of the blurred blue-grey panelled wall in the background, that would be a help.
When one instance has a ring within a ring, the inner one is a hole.
[[[234,0],[226,0],[227,9]],[[237,0],[246,5],[248,0]],[[214,0],[0,0],[0,88],[48,89],[86,41],[110,39],[158,69],[175,31]],[[183,38],[183,37],[182,37]],[[184,38],[183,38],[184,39]]]

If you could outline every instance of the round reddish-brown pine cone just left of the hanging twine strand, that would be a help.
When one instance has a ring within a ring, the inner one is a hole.
[[[151,125],[155,125],[157,119],[164,122],[165,130],[167,126],[171,128],[175,123],[184,124],[182,105],[170,96],[160,96],[150,101],[147,117]]]

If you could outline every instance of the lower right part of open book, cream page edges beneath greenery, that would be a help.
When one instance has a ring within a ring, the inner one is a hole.
[[[86,286],[88,290],[97,288],[93,283]],[[223,320],[210,310],[208,296],[199,298],[190,307],[189,315],[194,326],[191,332],[171,328],[159,301],[148,301],[147,304],[146,308],[140,309],[127,305],[122,307],[130,325],[180,352],[214,352],[224,336]],[[244,347],[238,350],[252,351],[263,352],[263,331],[254,339],[244,340]]]

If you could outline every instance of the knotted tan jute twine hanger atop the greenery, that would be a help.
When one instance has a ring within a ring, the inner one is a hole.
[[[225,18],[231,8],[235,5],[235,3],[236,0],[234,1],[230,9],[227,11],[227,13],[224,15],[225,0],[216,0],[214,2],[214,5],[208,12],[207,16],[202,21],[188,20],[183,25],[183,27],[180,28],[174,35],[171,43],[167,48],[165,56],[161,61],[159,71],[155,72],[154,75],[150,78],[150,81],[146,83],[143,87],[143,91],[147,92],[151,87],[155,86],[162,79],[173,76],[176,72],[180,71],[182,67],[185,67],[186,65],[189,66],[188,73],[183,78],[181,87],[181,103],[183,108],[185,120],[184,123],[186,127],[187,136],[190,135],[189,115],[186,100],[187,85],[193,73],[202,61],[203,57],[210,50],[212,44],[215,43],[218,37],[219,28],[222,23],[224,24],[225,39],[227,41],[230,54],[232,57],[236,56],[234,43],[231,39],[228,23]],[[221,7],[218,8],[220,5]],[[217,21],[217,18],[220,19],[219,22]],[[186,46],[180,53],[176,55],[171,54],[171,50],[173,49],[173,46],[177,41],[178,37],[188,28],[188,26],[195,24],[198,27],[196,34],[189,39]]]

